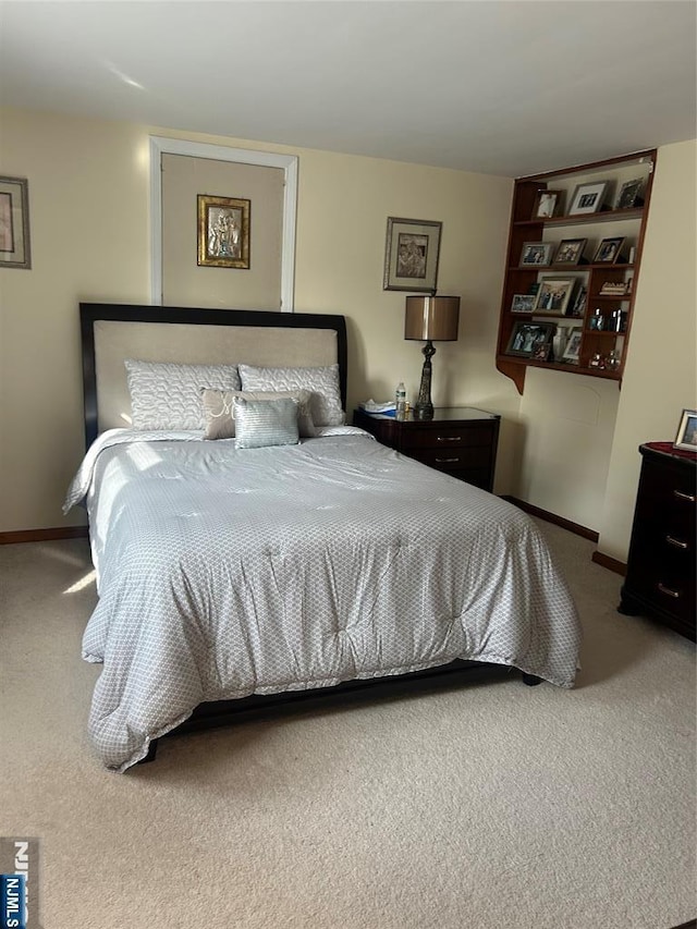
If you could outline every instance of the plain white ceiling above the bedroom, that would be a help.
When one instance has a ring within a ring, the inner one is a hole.
[[[521,176],[697,137],[694,0],[0,0],[4,106]]]

